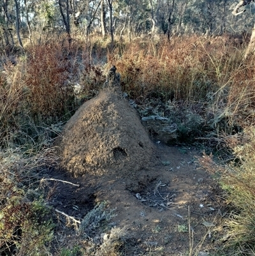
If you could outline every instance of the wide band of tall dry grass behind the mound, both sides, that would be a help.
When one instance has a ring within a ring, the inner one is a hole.
[[[105,80],[102,64],[96,64],[105,61],[106,48],[101,47],[78,40],[71,46],[60,39],[48,41],[28,45],[16,66],[5,65],[0,77],[1,145],[41,143],[45,127],[49,131],[51,124],[68,120],[80,103],[95,96]],[[227,36],[133,41],[108,51],[104,69],[112,64],[122,77],[123,91],[137,103],[156,98],[167,106],[170,100],[195,112],[200,104],[199,114],[217,135],[221,130],[231,133],[234,116],[247,110],[247,96],[252,100],[247,82],[242,87],[236,82],[244,71],[252,72],[242,66],[242,49]]]

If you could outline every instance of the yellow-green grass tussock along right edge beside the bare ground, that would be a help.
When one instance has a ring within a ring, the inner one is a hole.
[[[224,222],[226,234],[222,237],[227,255],[255,254],[255,130],[245,128],[242,133],[225,137],[233,153],[233,161],[219,166],[212,156],[205,156],[203,166],[220,174],[220,183],[226,191],[226,202],[231,212]],[[219,177],[219,176],[218,176]]]

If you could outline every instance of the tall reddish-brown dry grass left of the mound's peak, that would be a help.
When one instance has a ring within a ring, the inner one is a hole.
[[[42,145],[83,102],[75,94],[75,85],[82,83],[84,98],[89,98],[102,78],[79,41],[71,46],[62,40],[28,45],[14,65],[10,61],[3,64],[0,146]]]

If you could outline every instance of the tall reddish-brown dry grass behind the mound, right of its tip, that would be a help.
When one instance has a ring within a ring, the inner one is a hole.
[[[227,37],[173,38],[170,42],[135,41],[108,56],[122,75],[122,87],[133,98],[205,101],[229,86],[242,56]]]

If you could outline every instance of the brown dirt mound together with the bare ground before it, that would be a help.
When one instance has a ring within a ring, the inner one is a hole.
[[[107,90],[84,103],[63,135],[57,142],[61,169],[50,176],[80,187],[58,183],[50,204],[78,220],[96,202],[106,200],[108,209],[115,209],[111,223],[89,236],[96,241],[111,227],[120,228],[122,254],[112,248],[112,254],[100,255],[189,255],[191,248],[192,255],[214,251],[223,210],[212,177],[198,168],[196,159],[201,154],[195,147],[152,142],[128,101]],[[207,227],[208,223],[214,227]],[[61,248],[91,246],[64,224],[57,228],[55,243]]]

